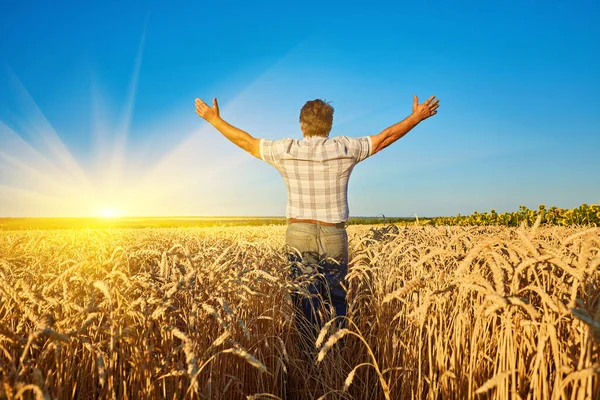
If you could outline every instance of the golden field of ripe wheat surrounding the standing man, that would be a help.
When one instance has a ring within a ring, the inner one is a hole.
[[[313,340],[285,226],[2,232],[0,398],[600,398],[600,228],[348,233]]]

